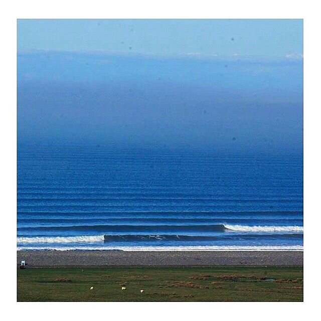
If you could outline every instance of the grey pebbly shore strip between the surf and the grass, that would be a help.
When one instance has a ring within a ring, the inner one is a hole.
[[[17,251],[37,266],[303,265],[301,251]]]

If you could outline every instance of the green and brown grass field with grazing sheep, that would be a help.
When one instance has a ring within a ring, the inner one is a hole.
[[[302,300],[302,267],[18,269],[18,301]]]

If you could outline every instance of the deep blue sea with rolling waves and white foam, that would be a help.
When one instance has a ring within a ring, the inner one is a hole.
[[[302,155],[18,146],[18,249],[302,250]]]

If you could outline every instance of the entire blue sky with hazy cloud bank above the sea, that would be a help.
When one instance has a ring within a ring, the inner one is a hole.
[[[19,20],[18,142],[302,151],[301,20]]]

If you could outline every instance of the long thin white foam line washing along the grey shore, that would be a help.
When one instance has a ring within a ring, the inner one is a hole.
[[[303,251],[302,245],[285,246],[65,246],[65,247],[32,247],[20,246],[18,251],[24,250],[121,250],[121,251]]]

